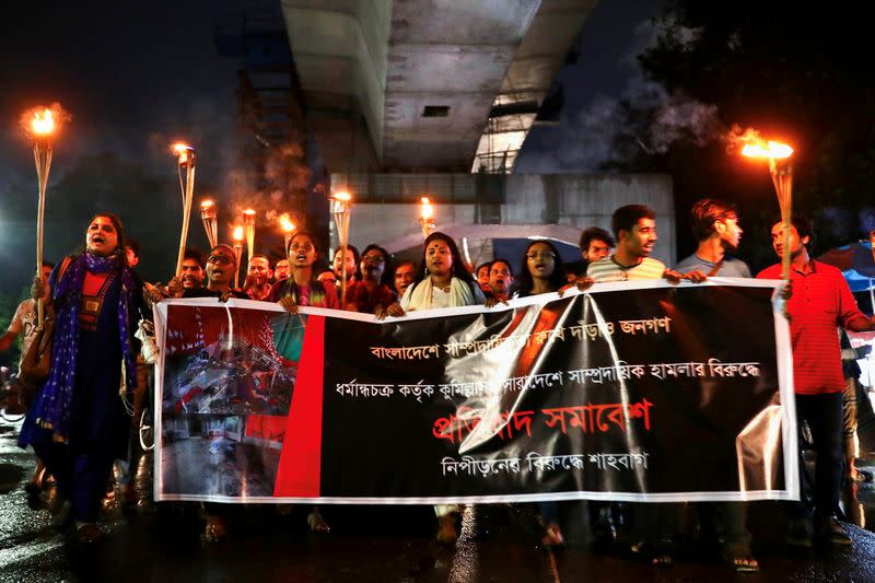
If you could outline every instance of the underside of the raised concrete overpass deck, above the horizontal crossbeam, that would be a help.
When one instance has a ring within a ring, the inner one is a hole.
[[[331,173],[511,172],[597,0],[281,0]]]

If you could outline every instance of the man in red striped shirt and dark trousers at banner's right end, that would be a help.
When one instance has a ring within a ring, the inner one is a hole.
[[[838,327],[852,331],[875,329],[875,316],[864,315],[841,271],[808,255],[812,223],[794,217],[790,248],[784,249],[783,223],[772,226],[772,247],[779,257],[790,253],[793,294],[788,301],[793,347],[793,389],[800,427],[807,421],[816,452],[814,500],[793,504],[788,543],[810,547],[813,538],[833,545],[851,539],[836,520],[842,480],[842,390]],[[759,279],[780,279],[781,264],[763,269]],[[804,468],[804,466],[802,466]],[[812,521],[810,506],[814,503]]]

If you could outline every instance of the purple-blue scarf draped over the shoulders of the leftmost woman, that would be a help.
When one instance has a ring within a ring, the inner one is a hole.
[[[85,271],[107,273],[120,271],[121,293],[118,296],[118,331],[121,354],[125,359],[127,386],[130,393],[137,386],[136,354],[130,343],[129,316],[136,315],[135,291],[137,283],[122,255],[101,257],[89,252],[73,257],[54,284],[51,300],[55,304],[55,336],[51,366],[42,396],[35,404],[36,423],[50,429],[56,441],[66,442],[70,434],[70,408],[75,385],[77,353],[79,351],[79,310],[82,305],[82,285]],[[119,380],[120,381],[120,380]]]

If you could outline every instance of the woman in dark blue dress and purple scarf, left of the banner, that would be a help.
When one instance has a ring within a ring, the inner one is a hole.
[[[143,304],[118,217],[94,217],[85,252],[60,263],[49,285],[56,312],[51,368],[19,444],[32,445],[55,476],[61,503],[54,524],[74,518],[80,540],[90,543],[101,536],[97,513],[113,462],[127,456],[130,419],[122,396],[137,385],[131,338]]]

